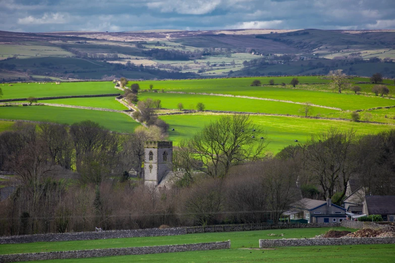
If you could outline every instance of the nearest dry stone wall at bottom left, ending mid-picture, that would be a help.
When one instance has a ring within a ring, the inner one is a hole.
[[[182,244],[182,245],[162,245],[162,246],[143,246],[143,247],[123,247],[90,250],[74,250],[59,252],[39,252],[0,255],[0,262],[18,262],[31,260],[65,259],[65,258],[85,258],[100,256],[119,256],[119,255],[143,255],[156,253],[184,252],[197,250],[214,250],[231,248],[231,241]]]

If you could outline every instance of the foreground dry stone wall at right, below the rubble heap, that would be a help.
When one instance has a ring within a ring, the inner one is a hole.
[[[259,239],[259,248],[277,246],[328,246],[395,244],[395,237]]]

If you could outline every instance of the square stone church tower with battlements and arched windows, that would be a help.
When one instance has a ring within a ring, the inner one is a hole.
[[[166,172],[172,170],[173,142],[148,141],[144,145],[145,183],[158,185]]]

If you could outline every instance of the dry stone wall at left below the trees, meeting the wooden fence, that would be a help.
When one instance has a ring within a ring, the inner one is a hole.
[[[18,244],[31,242],[51,242],[51,241],[74,241],[93,240],[125,237],[149,237],[149,236],[174,236],[185,234],[185,228],[149,228],[139,230],[114,230],[103,232],[75,232],[64,234],[36,234],[0,237],[0,244]]]

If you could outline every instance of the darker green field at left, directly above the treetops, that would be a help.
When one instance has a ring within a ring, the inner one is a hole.
[[[133,133],[134,129],[140,125],[123,113],[52,106],[1,107],[0,117],[67,124],[90,119],[108,129],[123,133]]]

